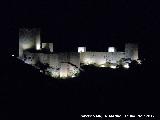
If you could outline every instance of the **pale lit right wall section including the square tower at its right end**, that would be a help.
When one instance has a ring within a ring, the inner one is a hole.
[[[110,47],[109,47],[110,48]],[[111,47],[113,48],[113,47]],[[115,48],[114,48],[115,49]],[[137,44],[125,44],[125,51],[119,52],[114,49],[108,49],[108,52],[81,52],[80,62],[84,64],[105,64],[117,63],[122,58],[130,58],[131,60],[138,60],[138,46]]]

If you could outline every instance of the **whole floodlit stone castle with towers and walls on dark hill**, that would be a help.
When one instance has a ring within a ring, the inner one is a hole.
[[[82,65],[95,64],[99,67],[111,68],[123,64],[129,68],[132,60],[138,60],[137,44],[125,44],[123,52],[115,47],[108,47],[108,52],[87,51],[86,47],[78,47],[77,52],[54,52],[53,43],[41,43],[40,29],[19,30],[19,59],[25,63],[39,67],[37,64],[48,65],[45,69],[52,77],[76,77]]]

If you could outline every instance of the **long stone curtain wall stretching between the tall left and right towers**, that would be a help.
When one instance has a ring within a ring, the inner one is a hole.
[[[73,67],[76,65],[80,68],[80,62],[84,64],[105,64],[106,62],[117,63],[121,58],[125,58],[125,52],[70,52],[70,53],[30,53],[25,52],[28,64],[35,64],[38,60],[41,63],[48,63],[53,68],[60,68],[62,72],[68,72],[69,70],[76,69]],[[30,57],[30,59],[29,59]],[[70,65],[69,63],[73,64]]]

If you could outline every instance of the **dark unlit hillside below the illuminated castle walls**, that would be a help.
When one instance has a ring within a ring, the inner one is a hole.
[[[77,78],[58,80],[10,57],[5,70],[11,83],[13,116],[66,118],[93,112],[156,112],[159,88],[153,64],[129,70],[94,66],[83,69]]]

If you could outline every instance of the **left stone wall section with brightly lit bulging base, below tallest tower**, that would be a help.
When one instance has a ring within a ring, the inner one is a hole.
[[[76,52],[66,53],[31,53],[24,51],[23,59],[25,63],[35,65],[38,61],[49,64],[49,72],[52,76],[71,77],[79,71],[80,55]]]

